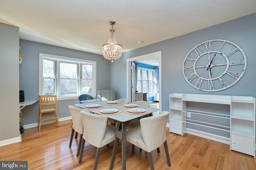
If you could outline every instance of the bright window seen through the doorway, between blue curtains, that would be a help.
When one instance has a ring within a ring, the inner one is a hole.
[[[138,92],[148,93],[148,96],[154,95],[154,71],[138,69],[137,78]]]

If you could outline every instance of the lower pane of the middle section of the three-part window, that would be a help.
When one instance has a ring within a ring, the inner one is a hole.
[[[77,89],[76,79],[60,79],[60,95],[78,94]]]

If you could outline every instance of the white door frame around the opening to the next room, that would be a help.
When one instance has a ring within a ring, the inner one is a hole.
[[[137,61],[140,59],[146,59],[146,58],[150,58],[153,56],[158,56],[159,59],[159,109],[160,111],[162,110],[162,52],[161,51],[157,51],[154,53],[149,53],[149,54],[145,54],[145,55],[140,55],[137,57],[132,57],[129,59],[126,59],[126,96],[128,96],[128,99],[132,100],[132,95],[131,95],[131,82],[132,82],[132,73],[131,73],[131,62],[132,61]]]

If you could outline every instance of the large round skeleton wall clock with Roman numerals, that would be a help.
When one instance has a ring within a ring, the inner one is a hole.
[[[194,88],[206,92],[234,85],[246,69],[244,51],[238,45],[214,39],[194,47],[183,62],[183,75]]]

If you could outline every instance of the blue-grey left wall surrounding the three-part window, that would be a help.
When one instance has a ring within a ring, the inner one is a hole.
[[[104,59],[102,55],[56,47],[22,39],[20,39],[20,46],[20,53],[24,54],[22,64],[20,64],[20,90],[25,90],[25,100],[34,100],[38,99],[39,97],[39,53],[96,61],[96,72],[98,73],[96,78],[97,90],[110,89],[110,62]],[[78,99],[58,100],[58,116],[60,118],[70,116],[68,106],[77,103],[79,103]],[[38,111],[38,102],[33,105],[24,107],[24,109],[22,109],[22,123],[24,125],[37,123]]]

